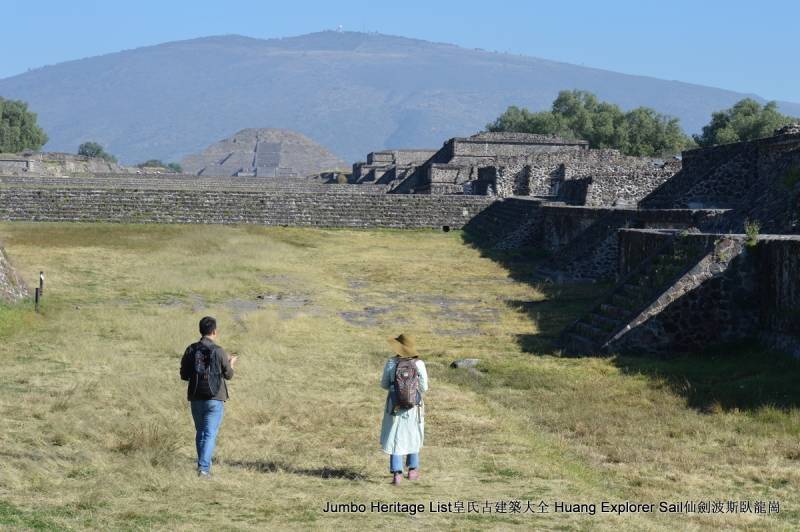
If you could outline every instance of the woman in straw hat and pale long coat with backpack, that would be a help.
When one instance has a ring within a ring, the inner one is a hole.
[[[381,387],[389,392],[381,424],[381,447],[390,455],[392,484],[398,485],[403,479],[404,456],[408,480],[419,478],[419,450],[425,438],[422,395],[428,391],[428,372],[410,336],[390,338],[389,344],[397,356],[386,361],[381,377]]]

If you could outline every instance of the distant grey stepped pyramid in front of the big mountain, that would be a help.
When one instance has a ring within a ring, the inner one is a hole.
[[[208,176],[252,174],[304,177],[347,163],[305,135],[287,129],[243,129],[181,161],[185,172]]]

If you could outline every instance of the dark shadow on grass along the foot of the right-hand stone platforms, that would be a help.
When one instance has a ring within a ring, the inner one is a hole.
[[[517,335],[520,349],[525,353],[567,356],[558,351],[559,335],[588,312],[610,285],[542,283],[534,275],[546,258],[541,250],[495,250],[491,242],[470,234],[469,227],[462,234],[465,244],[501,264],[515,280],[535,286],[545,296],[541,301],[508,302],[512,308],[524,312],[538,329],[537,333]],[[608,357],[626,375],[643,375],[655,386],[669,387],[684,397],[690,408],[700,412],[800,408],[797,386],[800,360],[760,347],[755,341],[672,357],[597,356]]]

